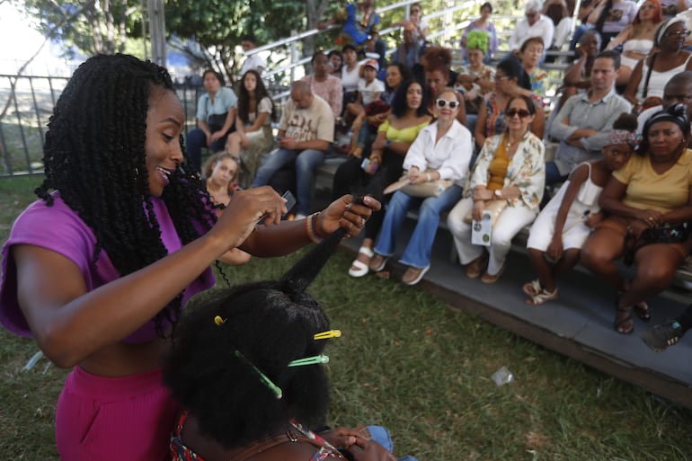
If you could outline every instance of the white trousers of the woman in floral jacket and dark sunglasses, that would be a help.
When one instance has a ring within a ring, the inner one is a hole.
[[[464,222],[464,217],[474,208],[474,200],[471,198],[462,199],[452,208],[447,218],[449,231],[454,237],[454,244],[457,247],[459,262],[468,264],[483,254],[484,247],[471,244],[471,225]],[[488,262],[488,273],[497,274],[502,264],[510,253],[511,239],[519,231],[533,222],[537,211],[524,206],[507,207],[502,210],[497,222],[492,226],[490,239],[490,261]]]

